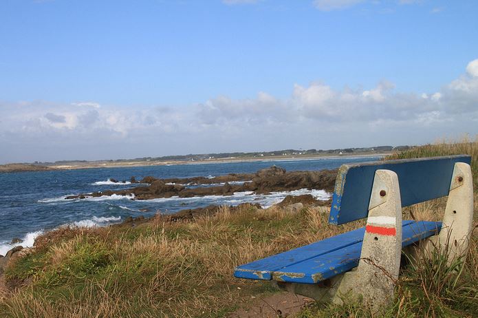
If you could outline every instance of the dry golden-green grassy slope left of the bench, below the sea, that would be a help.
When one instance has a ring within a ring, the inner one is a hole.
[[[221,317],[275,291],[235,279],[235,266],[337,229],[316,209],[246,205],[195,222],[53,231],[6,271],[17,290],[0,300],[0,317]]]

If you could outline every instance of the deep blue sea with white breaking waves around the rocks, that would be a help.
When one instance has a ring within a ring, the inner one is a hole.
[[[144,186],[129,183],[131,176],[135,176],[136,180],[141,180],[145,176],[155,178],[205,176],[213,179],[228,173],[254,173],[272,165],[287,171],[317,171],[336,169],[346,163],[375,160],[380,160],[380,156],[0,173],[0,255],[5,255],[17,245],[32,246],[35,237],[59,226],[107,226],[122,222],[129,216],[136,218],[144,215],[147,218],[155,213],[175,213],[182,209],[195,209],[210,204],[235,206],[253,202],[268,207],[281,202],[286,195],[311,194],[319,200],[327,200],[332,195],[323,189],[300,189],[274,192],[269,195],[237,192],[229,196],[208,195],[198,198],[173,197],[153,200],[134,200],[133,197],[122,195],[83,200],[65,199],[68,195],[79,193]],[[111,182],[111,179],[126,182],[115,183]],[[186,187],[202,186],[186,184]],[[20,238],[23,242],[10,244],[14,237]]]

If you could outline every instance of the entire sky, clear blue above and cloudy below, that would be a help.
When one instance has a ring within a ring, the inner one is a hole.
[[[0,163],[478,134],[478,1],[0,0]]]

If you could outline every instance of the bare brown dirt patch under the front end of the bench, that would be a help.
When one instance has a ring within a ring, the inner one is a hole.
[[[252,301],[232,312],[228,318],[292,317],[311,302],[314,302],[314,299],[283,292],[268,297],[252,298]]]

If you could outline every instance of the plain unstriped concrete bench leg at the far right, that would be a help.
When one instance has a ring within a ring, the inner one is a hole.
[[[439,249],[448,255],[448,264],[466,256],[473,229],[473,179],[470,165],[455,163],[446,202],[442,231],[426,244],[428,251]]]

